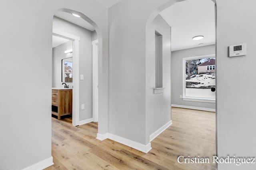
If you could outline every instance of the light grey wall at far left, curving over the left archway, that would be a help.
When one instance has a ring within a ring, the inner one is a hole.
[[[0,41],[0,46],[4,49],[5,73],[1,79],[6,83],[0,88],[0,169],[17,170],[34,164],[31,169],[40,169],[43,167],[38,163],[52,163],[52,17],[61,8],[82,12],[97,25],[101,37],[100,106],[101,110],[106,108],[102,99],[107,91],[102,87],[107,83],[102,80],[102,72],[107,77],[107,66],[102,70],[102,62],[108,65],[107,9],[94,0],[2,0],[0,16],[4,26],[0,37],[4,41]],[[100,113],[107,117],[107,111]]]

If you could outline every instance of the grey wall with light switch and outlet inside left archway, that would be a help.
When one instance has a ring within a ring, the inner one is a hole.
[[[92,31],[62,20],[53,18],[53,28],[80,37],[79,41],[79,74],[84,80],[79,80],[79,121],[92,118]],[[63,86],[63,85],[62,85]]]

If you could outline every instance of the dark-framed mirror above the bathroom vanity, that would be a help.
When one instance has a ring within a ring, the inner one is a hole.
[[[62,82],[73,82],[73,57],[62,59]]]

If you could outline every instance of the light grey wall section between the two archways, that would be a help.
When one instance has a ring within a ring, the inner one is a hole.
[[[136,19],[146,15],[141,14],[140,10],[134,10],[136,2],[124,0],[108,9],[108,131],[118,137],[147,145],[145,27],[140,19]]]

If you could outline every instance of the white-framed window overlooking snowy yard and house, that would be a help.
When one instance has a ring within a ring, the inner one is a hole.
[[[184,58],[183,68],[183,100],[214,102],[215,55]]]

